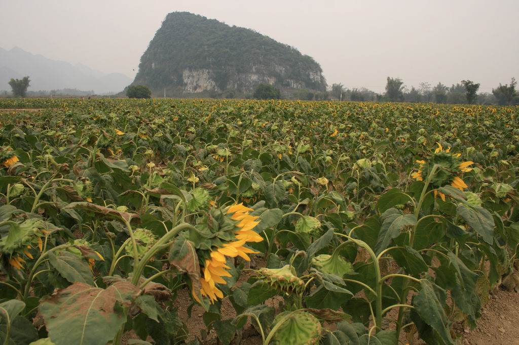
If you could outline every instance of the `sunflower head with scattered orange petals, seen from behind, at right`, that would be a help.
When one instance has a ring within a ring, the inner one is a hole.
[[[436,189],[446,185],[452,185],[460,191],[468,188],[465,181],[463,181],[463,173],[471,171],[472,168],[470,166],[474,162],[462,162],[460,160],[461,153],[453,154],[450,152],[450,147],[444,150],[439,142],[436,142],[436,144],[438,148],[434,150],[428,161],[416,161],[420,166],[418,171],[413,173],[412,177],[417,181],[423,181],[424,177],[427,178],[434,165],[438,165],[440,168],[436,169],[430,185],[435,189],[434,196],[440,195],[441,199],[445,201],[445,194]]]

